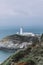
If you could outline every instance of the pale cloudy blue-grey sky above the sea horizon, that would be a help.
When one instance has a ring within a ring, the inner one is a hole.
[[[42,27],[43,0],[0,0],[0,28]]]

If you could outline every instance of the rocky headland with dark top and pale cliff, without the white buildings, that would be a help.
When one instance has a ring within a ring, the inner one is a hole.
[[[9,48],[9,49],[27,48],[27,46],[32,45],[32,43],[35,41],[38,42],[37,37],[21,36],[15,34],[2,39],[0,41],[0,48]]]

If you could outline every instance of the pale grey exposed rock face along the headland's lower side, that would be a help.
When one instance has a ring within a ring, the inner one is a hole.
[[[29,45],[32,45],[32,42],[23,42],[14,44],[12,41],[0,42],[1,48],[9,48],[9,49],[23,49],[27,48]]]

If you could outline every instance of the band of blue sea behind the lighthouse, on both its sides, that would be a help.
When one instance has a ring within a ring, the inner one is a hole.
[[[0,39],[15,34],[17,32],[19,32],[19,27],[17,28],[8,28],[8,29],[0,29]],[[23,28],[23,32],[32,32],[32,33],[36,33],[36,34],[42,34],[43,33],[43,27],[25,27]]]

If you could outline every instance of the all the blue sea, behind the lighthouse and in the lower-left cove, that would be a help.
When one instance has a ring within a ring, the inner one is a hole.
[[[0,29],[0,40],[6,36],[13,35],[19,32],[19,28],[8,28],[8,29]],[[23,28],[23,32],[32,32],[36,34],[42,34],[43,28]],[[14,53],[14,52],[13,52]],[[10,55],[13,54],[12,52],[0,50],[0,63],[5,61]]]

